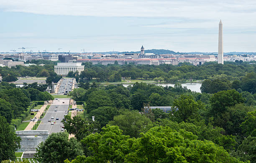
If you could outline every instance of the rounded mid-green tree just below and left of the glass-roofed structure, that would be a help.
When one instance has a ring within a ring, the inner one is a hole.
[[[117,125],[123,130],[124,135],[137,138],[139,133],[143,131],[144,126],[151,123],[151,120],[141,115],[137,110],[127,111],[123,115],[117,115],[110,121],[110,125]]]

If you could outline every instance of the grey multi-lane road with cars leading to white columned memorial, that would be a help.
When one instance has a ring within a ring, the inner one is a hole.
[[[63,79],[58,91],[59,94],[66,94],[67,92],[72,91],[72,82],[73,79],[71,78]],[[69,98],[54,99],[37,130],[48,130],[50,134],[53,132],[61,132],[61,127],[63,126],[61,120],[64,118],[64,115],[67,115],[69,100]]]

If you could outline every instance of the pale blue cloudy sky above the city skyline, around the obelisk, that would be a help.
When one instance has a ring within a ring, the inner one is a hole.
[[[256,51],[255,0],[0,0],[0,52]]]

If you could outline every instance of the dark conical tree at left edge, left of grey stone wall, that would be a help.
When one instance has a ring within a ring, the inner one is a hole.
[[[0,140],[0,161],[15,160],[15,151],[20,148],[20,137],[11,130],[3,116],[0,116]]]

